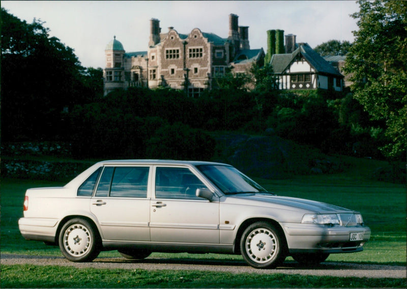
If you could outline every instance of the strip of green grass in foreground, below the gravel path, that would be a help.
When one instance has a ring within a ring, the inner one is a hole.
[[[403,288],[405,279],[317,277],[285,274],[234,274],[228,272],[77,269],[73,267],[3,265],[2,288]],[[62,274],[63,272],[63,274]],[[33,278],[36,276],[36,278]]]

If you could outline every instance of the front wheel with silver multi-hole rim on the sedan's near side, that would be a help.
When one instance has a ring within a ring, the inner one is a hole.
[[[240,240],[243,258],[257,269],[272,269],[281,265],[286,256],[285,248],[279,230],[267,222],[251,224]]]

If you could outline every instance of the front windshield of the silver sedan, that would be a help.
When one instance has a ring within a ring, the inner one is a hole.
[[[224,194],[266,192],[264,188],[232,166],[199,165],[197,168]]]

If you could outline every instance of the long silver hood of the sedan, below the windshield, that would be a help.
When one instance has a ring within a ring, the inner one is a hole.
[[[251,206],[271,207],[281,209],[300,209],[304,212],[312,213],[352,213],[354,211],[341,208],[338,206],[321,203],[315,200],[276,196],[270,194],[242,194],[242,195],[229,195],[229,201],[236,204],[245,204]]]

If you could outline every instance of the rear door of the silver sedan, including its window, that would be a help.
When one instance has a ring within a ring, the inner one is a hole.
[[[103,240],[150,241],[149,166],[106,166],[91,212]]]

